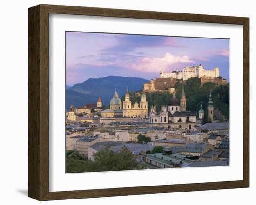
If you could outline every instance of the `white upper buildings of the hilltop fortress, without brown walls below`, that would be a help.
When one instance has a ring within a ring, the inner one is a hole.
[[[191,77],[209,77],[216,78],[220,76],[220,71],[218,67],[213,68],[213,70],[204,70],[204,67],[200,64],[199,66],[187,66],[183,68],[183,71],[172,71],[171,73],[160,72],[161,78],[173,77],[177,79],[187,80]]]

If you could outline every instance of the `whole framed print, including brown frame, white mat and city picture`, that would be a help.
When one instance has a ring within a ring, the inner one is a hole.
[[[249,187],[249,18],[29,8],[29,197]]]

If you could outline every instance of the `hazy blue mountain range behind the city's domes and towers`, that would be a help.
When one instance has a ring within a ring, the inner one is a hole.
[[[149,80],[140,77],[107,76],[101,78],[89,78],[88,80],[73,85],[66,86],[66,109],[69,110],[71,104],[74,107],[81,107],[87,103],[96,103],[99,96],[102,104],[108,106],[109,101],[117,89],[121,98],[128,86],[129,91],[137,91],[143,88],[143,83]]]

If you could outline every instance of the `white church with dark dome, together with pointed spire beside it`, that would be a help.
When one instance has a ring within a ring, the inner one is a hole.
[[[168,128],[194,128],[196,124],[196,115],[191,111],[187,111],[186,103],[187,100],[183,86],[180,100],[176,98],[174,93],[173,97],[170,99],[168,107],[162,105],[160,112],[156,112],[156,107],[151,106],[149,118],[150,124],[152,126],[155,125]]]

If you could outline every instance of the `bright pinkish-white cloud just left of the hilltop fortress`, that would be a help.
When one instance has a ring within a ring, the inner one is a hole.
[[[170,67],[175,66],[180,63],[191,63],[192,60],[188,56],[175,56],[171,53],[165,53],[163,57],[155,58],[142,58],[138,63],[133,63],[131,67],[134,70],[143,70],[146,72],[156,72],[156,71],[167,71]]]

